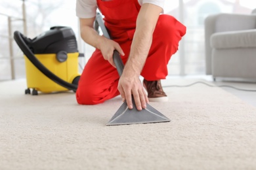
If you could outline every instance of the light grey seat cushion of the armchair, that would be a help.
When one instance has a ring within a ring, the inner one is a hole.
[[[210,42],[211,47],[217,49],[249,47],[256,48],[256,29],[213,33],[210,38]]]

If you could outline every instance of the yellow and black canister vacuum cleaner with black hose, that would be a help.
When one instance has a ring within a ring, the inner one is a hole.
[[[70,27],[51,27],[34,39],[14,32],[14,40],[24,53],[26,80],[25,93],[52,93],[77,90],[80,74],[75,33]]]

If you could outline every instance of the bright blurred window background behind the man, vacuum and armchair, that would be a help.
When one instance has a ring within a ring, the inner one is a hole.
[[[255,8],[255,0],[166,0],[164,13],[175,16],[187,27],[179,51],[169,62],[169,76],[205,75],[203,28],[209,14],[250,14]],[[80,61],[82,70],[95,48],[79,36],[75,1],[0,0],[0,81],[26,77],[23,53],[13,40],[13,32],[18,30],[33,39],[56,25],[74,30],[79,52],[85,54]]]

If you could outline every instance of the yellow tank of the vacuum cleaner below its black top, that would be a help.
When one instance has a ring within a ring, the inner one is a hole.
[[[79,53],[68,53],[67,59],[64,62],[60,62],[56,59],[57,54],[35,54],[35,57],[41,61],[49,71],[54,73],[62,80],[66,82],[72,83],[79,74],[78,71],[78,56]],[[26,65],[26,80],[28,88],[32,88],[34,90],[43,92],[43,93],[51,93],[51,92],[61,92],[68,91],[67,88],[60,86],[51,78],[43,75],[35,65],[26,57],[25,65]]]

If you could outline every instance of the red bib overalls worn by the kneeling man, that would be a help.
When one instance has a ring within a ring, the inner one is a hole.
[[[140,5],[137,0],[97,0],[97,4],[104,15],[110,36],[119,43],[125,53],[121,58],[123,63],[126,63]],[[146,80],[165,79],[168,75],[168,61],[177,52],[179,41],[185,33],[186,27],[173,16],[161,14],[141,76]],[[103,58],[100,50],[96,49],[85,65],[79,80],[76,92],[77,103],[95,105],[116,97],[119,95],[118,80],[116,68]]]

